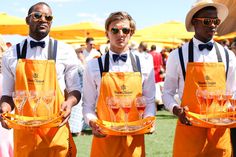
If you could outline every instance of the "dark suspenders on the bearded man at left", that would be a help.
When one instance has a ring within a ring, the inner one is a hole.
[[[16,45],[17,59],[25,59],[27,53],[27,39],[25,40],[22,48],[22,53],[20,50],[20,43]],[[50,38],[48,44],[48,60],[54,60],[56,62],[57,57],[57,40],[54,40],[52,43],[52,39]]]

